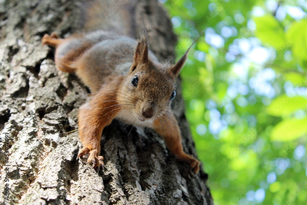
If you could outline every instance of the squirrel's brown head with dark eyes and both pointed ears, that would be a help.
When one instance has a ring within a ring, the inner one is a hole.
[[[188,52],[188,51],[187,51]],[[175,83],[187,52],[175,65],[163,65],[149,56],[147,38],[143,37],[135,49],[133,63],[123,82],[119,98],[139,120],[154,120],[169,112],[176,95]]]

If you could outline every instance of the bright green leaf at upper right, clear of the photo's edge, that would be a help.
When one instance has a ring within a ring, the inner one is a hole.
[[[285,33],[278,21],[269,14],[254,19],[256,23],[256,37],[262,42],[272,45],[276,49],[281,49],[286,44]]]

